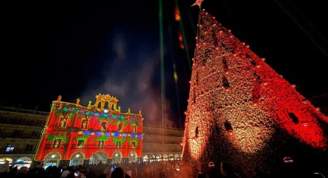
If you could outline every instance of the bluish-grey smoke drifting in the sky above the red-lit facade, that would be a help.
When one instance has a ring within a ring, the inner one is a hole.
[[[101,81],[100,85],[90,82],[88,90],[80,98],[81,104],[87,105],[89,100],[94,104],[95,95],[109,94],[119,100],[117,106],[121,106],[121,113],[128,112],[128,107],[131,107],[131,113],[138,114],[141,110],[142,116],[145,118],[144,123],[162,124],[160,86],[153,84],[154,75],[160,75],[159,51],[145,53],[145,50],[136,49],[140,53],[135,52],[138,55],[131,59],[126,49],[128,41],[124,36],[115,35],[112,43],[112,50],[116,57],[108,63],[99,65],[101,70],[98,69],[98,71],[102,71],[105,80]],[[175,126],[170,119],[172,117],[174,118],[175,115],[169,100],[166,99],[165,125]]]

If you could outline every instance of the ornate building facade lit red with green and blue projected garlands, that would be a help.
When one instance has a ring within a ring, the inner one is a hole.
[[[35,160],[50,165],[137,162],[142,153],[142,115],[121,113],[116,97],[97,95],[87,107],[53,101]]]

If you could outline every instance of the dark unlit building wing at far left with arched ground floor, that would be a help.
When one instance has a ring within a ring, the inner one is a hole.
[[[49,113],[0,107],[0,164],[30,167]]]

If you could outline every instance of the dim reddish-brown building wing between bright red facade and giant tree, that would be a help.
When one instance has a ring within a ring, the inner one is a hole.
[[[157,125],[142,126],[144,131],[142,160],[168,161],[180,160],[182,152],[183,129]]]

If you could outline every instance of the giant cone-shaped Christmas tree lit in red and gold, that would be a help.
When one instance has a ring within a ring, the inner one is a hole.
[[[197,26],[182,155],[190,172],[210,161],[229,161],[245,177],[326,166],[319,108],[205,10]]]

